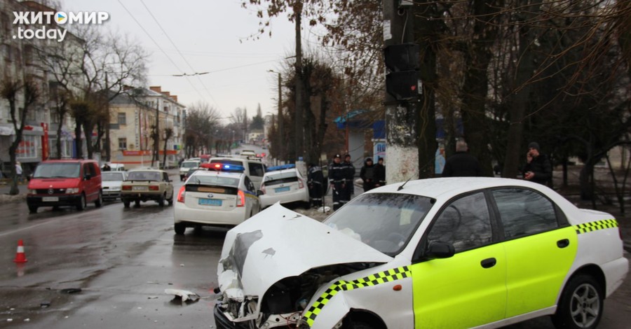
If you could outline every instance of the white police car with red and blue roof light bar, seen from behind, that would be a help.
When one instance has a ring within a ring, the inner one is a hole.
[[[255,186],[243,167],[204,163],[208,171],[194,172],[177,193],[175,233],[202,225],[238,225],[261,210]]]

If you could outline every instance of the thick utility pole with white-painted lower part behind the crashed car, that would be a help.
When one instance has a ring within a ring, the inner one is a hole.
[[[399,0],[383,0],[384,45],[414,42],[414,6],[398,8]],[[386,94],[386,181],[419,178],[415,104]]]

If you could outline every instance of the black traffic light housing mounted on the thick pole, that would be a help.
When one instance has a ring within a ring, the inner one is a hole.
[[[386,92],[397,100],[419,97],[419,45],[403,43],[388,45],[384,49],[386,67]]]

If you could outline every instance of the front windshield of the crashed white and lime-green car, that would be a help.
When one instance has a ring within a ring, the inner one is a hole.
[[[369,193],[355,197],[323,223],[386,255],[400,253],[432,207],[419,195]]]

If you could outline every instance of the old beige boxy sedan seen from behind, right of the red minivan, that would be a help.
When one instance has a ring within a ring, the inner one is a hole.
[[[125,208],[129,208],[131,202],[140,206],[140,202],[155,201],[160,207],[165,202],[173,204],[173,184],[167,172],[160,169],[135,169],[130,170],[127,180],[121,186],[121,200]]]

